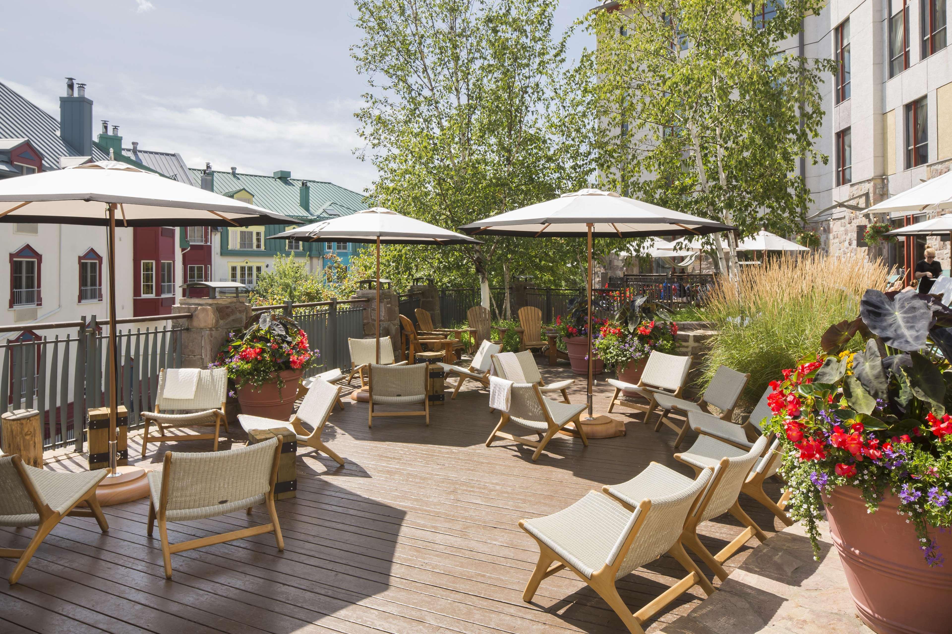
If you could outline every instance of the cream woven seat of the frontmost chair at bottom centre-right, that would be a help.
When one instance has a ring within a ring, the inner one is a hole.
[[[611,498],[591,491],[567,509],[526,520],[525,528],[590,579],[605,566],[631,515]]]

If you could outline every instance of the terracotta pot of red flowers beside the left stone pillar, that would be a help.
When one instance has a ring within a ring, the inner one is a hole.
[[[242,413],[287,420],[301,377],[319,355],[293,319],[263,313],[245,332],[229,333],[209,367],[228,368]]]

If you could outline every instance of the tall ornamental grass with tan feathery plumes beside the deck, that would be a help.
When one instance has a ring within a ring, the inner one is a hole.
[[[736,284],[719,278],[704,310],[718,331],[710,341],[704,385],[723,364],[750,373],[744,400],[757,402],[784,368],[816,355],[829,324],[857,317],[863,293],[884,290],[887,275],[882,260],[870,262],[858,253],[811,253],[744,266]],[[860,350],[863,344],[856,340],[849,345]]]

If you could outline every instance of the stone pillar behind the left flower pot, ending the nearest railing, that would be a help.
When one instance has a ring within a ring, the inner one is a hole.
[[[182,333],[182,367],[205,368],[228,340],[228,333],[245,330],[251,306],[243,298],[180,298],[172,313],[190,313]]]

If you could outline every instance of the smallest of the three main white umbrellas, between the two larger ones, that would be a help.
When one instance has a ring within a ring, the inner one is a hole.
[[[480,240],[449,231],[435,224],[403,216],[384,207],[371,207],[356,214],[314,222],[270,240],[303,242],[362,242],[377,245],[377,363],[380,363],[380,245],[381,244],[482,244]]]

